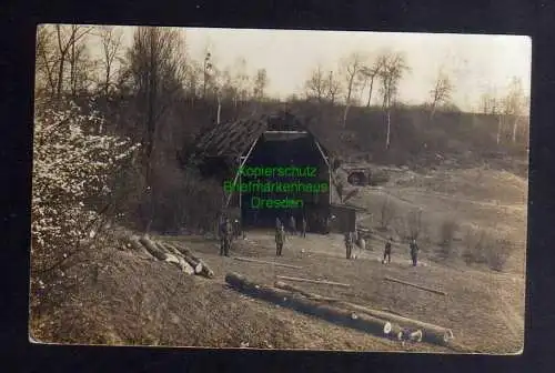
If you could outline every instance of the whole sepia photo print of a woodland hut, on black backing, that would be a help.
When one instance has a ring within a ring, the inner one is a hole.
[[[39,24],[30,342],[522,354],[532,42]]]

